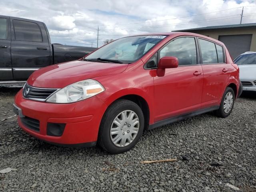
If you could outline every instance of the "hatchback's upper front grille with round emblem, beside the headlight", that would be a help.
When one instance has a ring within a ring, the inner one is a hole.
[[[56,90],[58,89],[32,87],[26,83],[23,88],[23,96],[30,100],[45,101]]]

